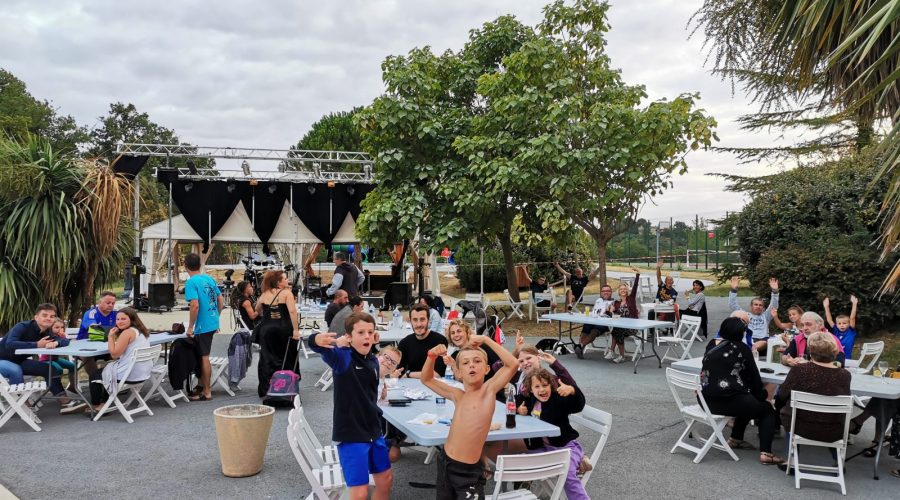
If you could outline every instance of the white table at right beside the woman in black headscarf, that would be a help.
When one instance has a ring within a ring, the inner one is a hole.
[[[700,373],[702,365],[703,358],[700,357],[672,363],[672,368],[688,373]],[[768,363],[765,361],[757,363],[757,367],[760,370],[772,370],[772,373],[760,371],[759,377],[767,384],[776,385],[781,385],[784,382],[784,378],[790,370],[790,367],[780,363]],[[869,404],[875,405],[875,441],[879,443],[875,452],[875,479],[878,479],[878,462],[881,459],[881,449],[883,448],[880,444],[884,440],[884,433],[893,416],[892,410],[896,408],[897,400],[900,399],[900,379],[881,379],[871,375],[854,373],[850,378],[850,393],[854,396],[871,397]]]

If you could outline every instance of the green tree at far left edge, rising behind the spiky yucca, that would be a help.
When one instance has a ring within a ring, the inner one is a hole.
[[[0,68],[0,134],[25,139],[29,134],[46,137],[59,151],[76,152],[88,141],[87,129],[75,119],[60,115],[47,101],[35,99],[9,71]]]

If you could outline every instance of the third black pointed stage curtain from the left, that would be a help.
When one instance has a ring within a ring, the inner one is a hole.
[[[350,212],[350,194],[344,184],[297,184],[292,208],[319,241],[330,244]]]

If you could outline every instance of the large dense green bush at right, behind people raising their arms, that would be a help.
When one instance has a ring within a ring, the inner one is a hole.
[[[730,178],[731,190],[752,197],[726,223],[739,240],[741,274],[756,293],[768,295],[774,276],[782,309],[797,304],[822,312],[827,296],[832,312],[840,314],[849,312],[854,294],[867,328],[900,316],[892,297],[877,295],[900,255],[879,261],[872,244],[888,187],[885,180],[873,182],[876,164],[873,154],[863,152],[762,178]]]

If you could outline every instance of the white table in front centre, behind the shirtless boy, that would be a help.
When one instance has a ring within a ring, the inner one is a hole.
[[[408,387],[412,389],[420,389],[428,392],[431,397],[421,401],[413,401],[409,406],[390,406],[385,404],[382,407],[384,419],[392,426],[406,434],[410,441],[423,446],[439,446],[447,441],[447,435],[450,433],[450,426],[442,423],[427,424],[411,424],[410,420],[416,418],[422,413],[437,413],[434,403],[434,393],[431,392],[421,381],[416,379],[400,379],[400,387]],[[452,413],[453,402],[447,401],[447,412]],[[493,422],[500,423],[500,429],[488,432],[485,441],[508,441],[510,439],[526,439],[536,437],[554,437],[559,436],[559,427],[548,424],[540,419],[532,416],[516,415],[516,426],[507,429],[506,424],[506,406],[497,402],[494,407]]]

